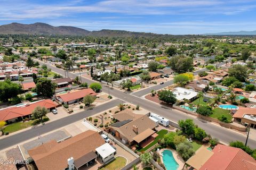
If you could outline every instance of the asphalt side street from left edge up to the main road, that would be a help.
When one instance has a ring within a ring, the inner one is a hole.
[[[0,150],[5,149],[7,147],[14,146],[14,145],[18,145],[18,143],[37,137],[38,135],[42,135],[44,133],[59,129],[63,126],[82,120],[85,117],[103,112],[106,109],[115,107],[122,102],[123,102],[122,100],[115,99],[106,104],[102,104],[100,106],[94,107],[92,110],[87,110],[87,111],[85,110],[83,112],[76,113],[71,116],[63,117],[53,122],[48,122],[48,123],[46,122],[45,125],[37,126],[36,128],[32,128],[27,131],[10,135],[9,137],[6,137],[0,140]]]

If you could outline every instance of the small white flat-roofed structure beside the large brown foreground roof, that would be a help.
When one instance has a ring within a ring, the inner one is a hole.
[[[116,150],[111,147],[109,143],[105,143],[104,145],[101,145],[95,150],[97,151],[96,153],[103,163],[106,163],[108,162],[108,160],[113,159],[116,152]]]

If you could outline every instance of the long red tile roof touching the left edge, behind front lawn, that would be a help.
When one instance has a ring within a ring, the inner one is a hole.
[[[37,106],[45,107],[47,109],[53,108],[58,106],[52,100],[40,100],[34,103],[30,103],[29,105],[25,106],[12,106],[8,108],[4,108],[0,110],[0,121],[7,121],[11,120],[12,118],[17,118],[21,116],[26,116],[32,114],[34,109]]]

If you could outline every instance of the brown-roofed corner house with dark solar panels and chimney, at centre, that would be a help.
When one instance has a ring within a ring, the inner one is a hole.
[[[113,115],[118,122],[111,124],[110,132],[114,133],[123,143],[133,145],[155,138],[156,124],[147,115],[134,117],[127,111]],[[117,117],[118,116],[118,117]],[[153,135],[153,136],[152,136]]]

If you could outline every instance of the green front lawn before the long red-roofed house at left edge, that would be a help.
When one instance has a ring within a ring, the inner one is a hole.
[[[46,120],[49,120],[48,117],[44,116],[43,117],[43,120],[44,122],[46,122]],[[41,123],[41,121],[39,121],[38,119],[37,120],[31,120],[31,121],[26,121],[26,122],[15,122],[15,123],[11,123],[9,125],[7,125],[4,129],[3,129],[3,132],[9,132],[9,133],[12,133],[12,132],[16,132],[16,131],[19,131],[21,129],[25,129],[25,128],[28,128],[30,126],[34,126],[34,125],[37,125]]]

